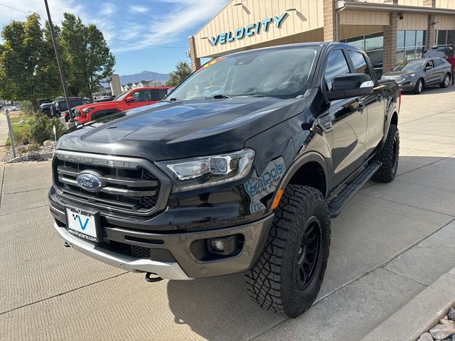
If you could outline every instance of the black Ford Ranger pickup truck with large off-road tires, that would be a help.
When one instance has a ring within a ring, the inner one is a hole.
[[[400,98],[343,43],[217,58],[158,104],[58,141],[54,227],[150,282],[245,272],[262,308],[294,318],[321,287],[330,219],[395,178]]]

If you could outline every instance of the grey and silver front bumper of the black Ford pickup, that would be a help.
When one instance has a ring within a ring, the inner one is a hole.
[[[94,259],[103,261],[119,269],[132,272],[151,272],[168,279],[190,279],[209,276],[223,276],[246,271],[255,266],[262,253],[272,224],[274,214],[261,220],[235,227],[210,229],[200,232],[149,233],[122,227],[102,226],[103,238],[117,243],[146,247],[154,251],[166,251],[171,254],[171,261],[138,259],[119,253],[106,244],[94,244],[70,234],[65,227],[65,213],[50,202],[50,212],[55,218],[54,227],[60,237],[71,247]],[[60,222],[60,223],[59,223]],[[195,245],[204,245],[205,239],[242,235],[240,251],[233,256],[218,259],[200,260],[195,252]],[[203,242],[201,242],[203,241]]]

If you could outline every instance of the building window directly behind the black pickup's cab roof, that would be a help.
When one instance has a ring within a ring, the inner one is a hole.
[[[348,43],[357,48],[365,50],[373,63],[375,74],[378,79],[382,75],[382,49],[384,46],[384,33],[373,33],[366,36],[342,39],[343,43]]]

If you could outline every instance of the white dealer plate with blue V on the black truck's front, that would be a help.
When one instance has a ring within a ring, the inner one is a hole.
[[[100,242],[100,232],[98,227],[99,217],[97,213],[89,213],[81,210],[67,208],[66,219],[68,221],[68,232],[76,237],[90,240],[90,242]]]

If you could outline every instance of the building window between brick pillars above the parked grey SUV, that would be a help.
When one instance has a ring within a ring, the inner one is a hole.
[[[397,31],[397,63],[422,57],[427,31]]]

